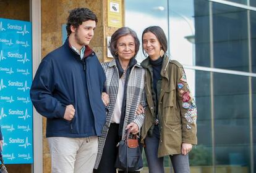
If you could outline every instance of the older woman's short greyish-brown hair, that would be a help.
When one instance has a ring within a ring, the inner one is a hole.
[[[109,42],[109,49],[111,54],[113,55],[114,58],[117,58],[118,55],[116,54],[117,52],[117,41],[119,38],[121,38],[122,36],[127,36],[127,35],[131,35],[134,38],[134,42],[135,42],[135,54],[134,57],[136,57],[139,48],[140,48],[140,41],[137,37],[137,34],[135,33],[134,30],[128,28],[128,27],[122,27],[119,28],[118,30],[116,30],[114,32],[114,34],[111,36],[111,40]]]

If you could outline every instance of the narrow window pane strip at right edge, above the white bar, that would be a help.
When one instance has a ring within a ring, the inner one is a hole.
[[[256,1],[255,1],[256,2]],[[250,11],[250,31],[252,42],[252,72],[256,73],[256,12]]]

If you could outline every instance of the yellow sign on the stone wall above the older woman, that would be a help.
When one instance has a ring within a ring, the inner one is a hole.
[[[108,26],[122,27],[122,1],[108,0]]]

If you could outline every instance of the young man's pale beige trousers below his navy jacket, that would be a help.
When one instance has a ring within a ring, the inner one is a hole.
[[[52,173],[92,173],[98,137],[49,137]]]

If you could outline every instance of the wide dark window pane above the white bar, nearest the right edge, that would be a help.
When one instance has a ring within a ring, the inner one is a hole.
[[[249,71],[247,10],[213,4],[214,67]]]

